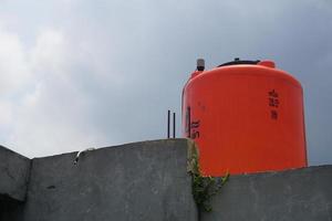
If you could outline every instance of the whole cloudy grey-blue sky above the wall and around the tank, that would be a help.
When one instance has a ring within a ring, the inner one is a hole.
[[[0,145],[32,158],[165,138],[198,57],[295,76],[309,164],[332,164],[330,0],[0,0]]]

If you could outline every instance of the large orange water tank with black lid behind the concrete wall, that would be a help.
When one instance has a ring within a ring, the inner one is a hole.
[[[198,144],[206,176],[308,164],[303,90],[272,61],[198,64],[183,91],[183,134]]]

